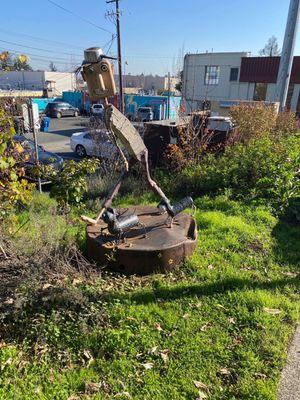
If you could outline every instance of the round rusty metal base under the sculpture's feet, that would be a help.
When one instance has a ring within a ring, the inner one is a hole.
[[[87,226],[88,257],[100,266],[146,275],[171,270],[194,252],[197,226],[190,215],[178,214],[169,227],[167,214],[159,214],[155,207],[136,206],[120,211],[124,215],[134,212],[142,224],[127,232],[124,239],[118,241],[107,230],[102,232],[102,220]]]

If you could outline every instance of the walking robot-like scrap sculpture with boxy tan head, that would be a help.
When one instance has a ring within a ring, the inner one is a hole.
[[[91,100],[99,101],[103,99],[105,102],[104,122],[110,137],[114,141],[124,161],[125,172],[121,175],[110,194],[105,199],[98,216],[95,219],[82,216],[82,219],[90,224],[97,224],[99,220],[102,219],[107,224],[109,232],[113,235],[121,235],[125,230],[139,224],[137,216],[130,215],[122,217],[110,207],[121,187],[123,179],[129,172],[129,163],[118,145],[118,139],[124,145],[129,156],[142,164],[150,189],[161,198],[158,209],[162,213],[166,212],[172,220],[175,215],[193,204],[192,198],[185,197],[179,203],[171,205],[167,196],[151,178],[148,164],[148,150],[141,136],[131,122],[116,107],[108,103],[108,97],[116,94],[113,68],[109,62],[110,57],[103,55],[101,49],[92,47],[85,50],[84,58],[85,60],[81,67],[83,79],[87,83]]]

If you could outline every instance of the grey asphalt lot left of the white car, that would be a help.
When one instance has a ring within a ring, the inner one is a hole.
[[[64,158],[77,159],[70,148],[70,137],[75,132],[86,130],[87,122],[84,117],[52,118],[49,132],[38,133],[38,144]]]

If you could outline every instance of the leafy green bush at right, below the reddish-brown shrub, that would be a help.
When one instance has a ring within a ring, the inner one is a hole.
[[[220,157],[208,154],[198,165],[184,168],[175,191],[218,194],[260,200],[282,208],[300,193],[300,135],[273,140],[263,136],[247,145],[228,146]]]

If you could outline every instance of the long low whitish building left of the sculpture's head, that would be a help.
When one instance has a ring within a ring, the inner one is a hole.
[[[0,89],[3,91],[43,91],[48,89],[52,96],[76,88],[73,72],[50,71],[1,71]]]

